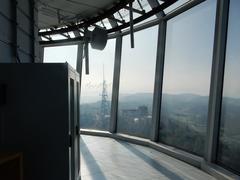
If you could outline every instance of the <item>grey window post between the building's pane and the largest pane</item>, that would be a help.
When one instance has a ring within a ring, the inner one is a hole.
[[[156,59],[155,83],[154,83],[154,94],[153,94],[153,106],[152,106],[151,140],[155,142],[158,141],[158,136],[159,136],[162,84],[163,84],[163,71],[164,71],[164,55],[165,55],[165,43],[166,43],[166,27],[167,27],[167,22],[165,20],[162,20],[158,27],[159,29],[158,29],[157,59]]]

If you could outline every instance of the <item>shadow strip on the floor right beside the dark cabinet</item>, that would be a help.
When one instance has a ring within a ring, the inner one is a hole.
[[[93,180],[107,180],[102,172],[101,168],[97,164],[95,158],[92,153],[89,151],[87,144],[84,142],[83,138],[80,140],[81,142],[81,151],[83,152],[83,158],[85,160],[85,164],[91,173],[91,179]],[[81,152],[81,153],[82,153]]]

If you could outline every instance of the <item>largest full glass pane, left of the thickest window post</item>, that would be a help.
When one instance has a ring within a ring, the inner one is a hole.
[[[216,1],[167,22],[160,142],[202,155],[207,126]]]

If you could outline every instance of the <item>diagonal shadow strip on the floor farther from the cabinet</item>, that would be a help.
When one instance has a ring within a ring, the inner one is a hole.
[[[122,141],[117,141],[117,142],[119,144],[121,144],[122,146],[124,146],[126,149],[128,149],[130,152],[132,152],[133,154],[135,154],[136,156],[138,156],[139,158],[144,160],[152,168],[156,169],[157,171],[159,171],[161,174],[163,174],[167,178],[172,179],[172,180],[183,180],[184,179],[184,178],[180,177],[179,175],[175,174],[174,172],[172,172],[171,170],[167,169],[166,167],[162,166],[161,164],[159,164],[159,162],[157,162],[156,160],[152,159],[148,155],[146,155],[143,152],[139,151],[133,145],[128,144],[126,142],[122,142]]]

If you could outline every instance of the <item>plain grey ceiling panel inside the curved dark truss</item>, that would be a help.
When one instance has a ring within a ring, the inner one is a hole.
[[[37,0],[39,28],[81,22],[112,8],[120,0]]]

